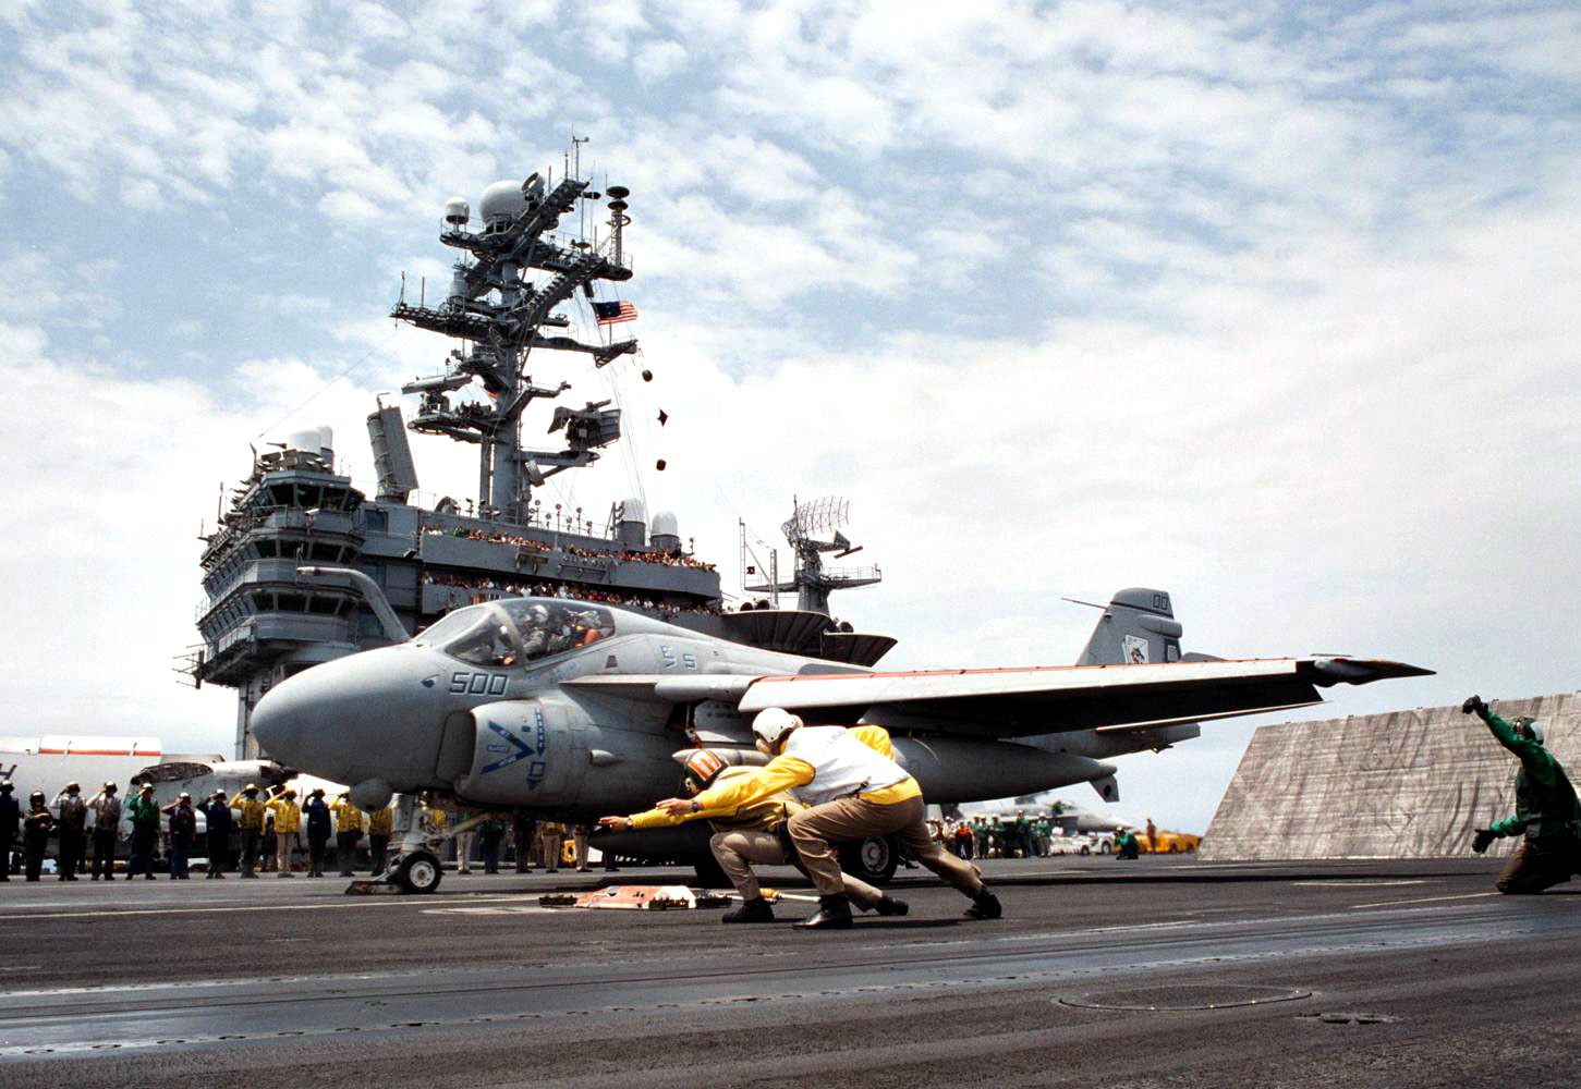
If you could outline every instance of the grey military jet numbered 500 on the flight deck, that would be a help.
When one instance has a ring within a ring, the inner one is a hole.
[[[403,635],[360,572],[387,631]],[[889,729],[896,759],[931,803],[980,801],[1091,782],[1119,797],[1104,760],[1165,749],[1205,719],[1322,702],[1317,689],[1431,670],[1358,658],[1221,661],[1181,654],[1170,597],[1124,590],[1077,665],[882,672],[783,654],[604,604],[509,597],[458,609],[414,639],[315,665],[275,686],[253,732],[277,760],[351,784],[359,806],[397,797],[387,879],[438,885],[436,844],[413,819],[440,805],[590,822],[675,793],[677,751],[705,744],[760,763],[751,719],[768,707],[813,722]],[[681,754],[683,756],[683,754]],[[406,830],[405,833],[402,830]],[[683,831],[602,833],[621,857],[707,858]],[[642,841],[650,836],[648,841]],[[598,841],[596,841],[598,842]],[[847,846],[874,880],[892,844]]]

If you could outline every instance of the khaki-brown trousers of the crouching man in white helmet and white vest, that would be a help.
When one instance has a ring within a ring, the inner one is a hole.
[[[922,795],[881,806],[860,795],[836,798],[790,817],[790,839],[819,896],[843,891],[840,861],[830,844],[866,836],[895,836],[912,858],[944,879],[944,884],[975,896],[983,888],[977,866],[961,861],[933,841]]]

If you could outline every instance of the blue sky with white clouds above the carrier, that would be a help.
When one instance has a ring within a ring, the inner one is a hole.
[[[1189,650],[1439,670],[1320,718],[1576,688],[1573,5],[13,0],[0,27],[6,733],[229,746],[232,692],[172,673],[221,484],[330,424],[372,492],[375,395],[449,348],[387,318],[402,273],[443,283],[444,199],[558,177],[572,136],[632,191],[643,354],[534,364],[631,436],[545,503],[642,495],[734,590],[738,518],[775,542],[794,495],[843,495],[885,580],[835,610],[893,665],[1066,662],[1096,613],[1062,596],[1146,585]],[[414,446],[430,498],[473,495],[470,452]],[[1129,757],[1116,811],[1200,831],[1251,729]]]

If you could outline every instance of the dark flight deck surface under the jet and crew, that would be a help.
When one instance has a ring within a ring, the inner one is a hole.
[[[904,871],[846,933],[539,907],[602,874],[0,888],[8,1084],[1573,1084],[1581,887],[1475,861]],[[770,882],[806,893],[794,871]],[[610,876],[609,880],[617,880]],[[669,884],[675,871],[626,871]],[[781,918],[808,912],[783,904]],[[373,1064],[373,1067],[370,1067]],[[844,1073],[841,1073],[844,1072]],[[987,1081],[985,1081],[987,1080]]]

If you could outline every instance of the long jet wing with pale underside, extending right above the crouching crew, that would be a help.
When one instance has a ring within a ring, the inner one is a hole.
[[[651,702],[716,699],[743,714],[890,708],[914,719],[971,724],[994,737],[1197,722],[1320,703],[1320,688],[1432,670],[1361,658],[1276,658],[1156,665],[802,673],[795,676],[585,676],[572,688]],[[942,724],[942,722],[941,722]]]

